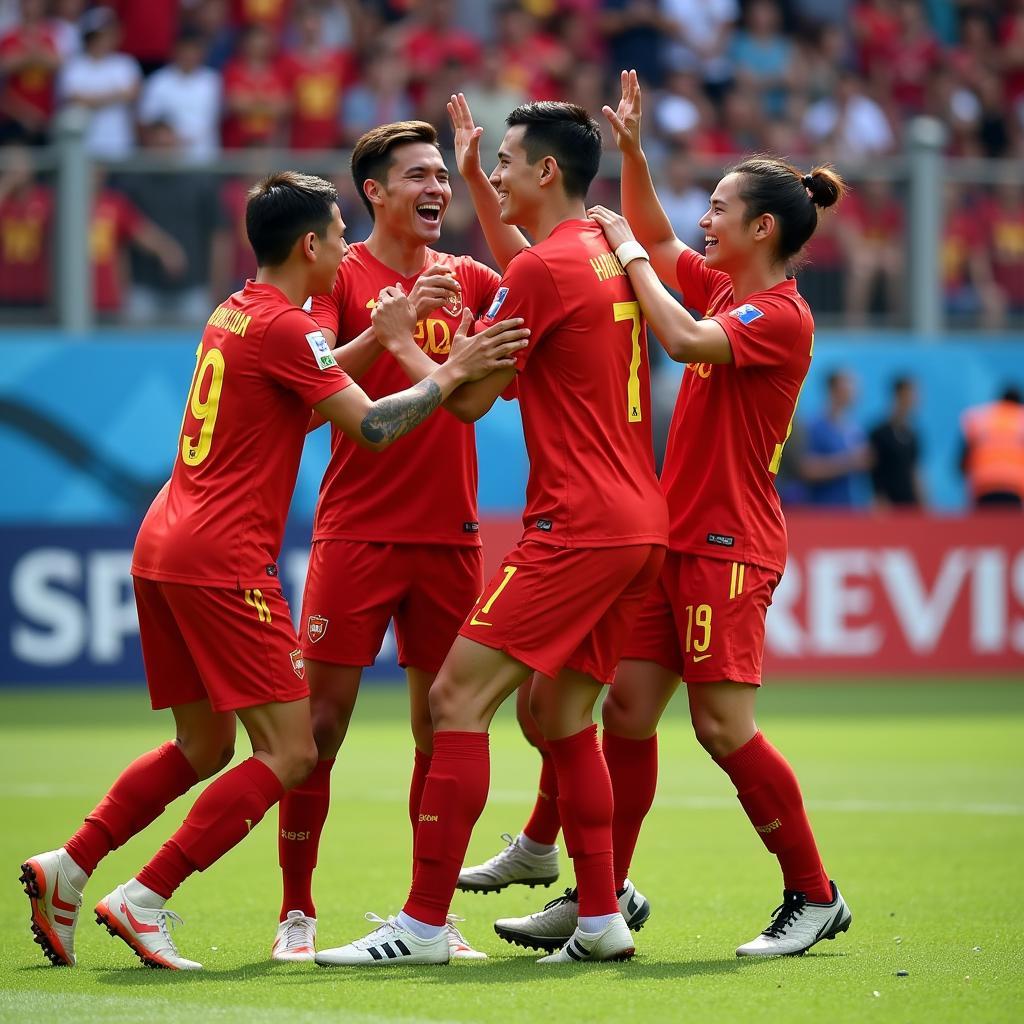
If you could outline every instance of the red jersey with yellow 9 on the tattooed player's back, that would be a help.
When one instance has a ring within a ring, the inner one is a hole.
[[[132,572],[204,587],[274,587],[309,408],[351,384],[319,328],[271,285],[214,309],[197,351],[171,479]]]

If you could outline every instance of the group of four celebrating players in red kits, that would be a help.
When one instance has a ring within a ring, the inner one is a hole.
[[[495,930],[544,951],[541,964],[628,959],[651,915],[630,862],[653,803],[658,720],[681,681],[697,739],[782,872],[781,905],[737,954],[802,953],[849,928],[796,776],[754,720],[786,555],[773,478],[814,337],[786,268],[843,182],[828,168],[742,161],[711,197],[698,255],[657,200],[636,74],[622,84],[617,109],[604,108],[622,215],[587,208],[601,134],[586,111],[517,108],[487,175],[481,129],[452,97],[459,171],[500,275],[431,248],[452,188],[424,122],[376,128],[353,151],[373,219],[365,242],[346,245],[327,181],[285,172],[251,190],[259,271],[210,316],[171,478],[132,561],[151,700],[171,709],[176,736],[130,764],[63,846],[22,865],[52,964],[76,963],[100,859],[214,775],[150,862],[95,906],[151,967],[201,969],[171,938],[166,903],[275,804],[273,959],[483,958],[451,913],[456,890],[550,885],[559,831],[575,886]],[[646,325],[687,364],[660,480]],[[485,581],[472,424],[499,398],[519,402],[529,479],[522,537]],[[297,638],[276,559],[305,435],[326,423]],[[390,621],[415,743],[412,886],[396,915],[368,913],[369,935],[317,948],[312,880],[332,769]],[[490,720],[513,693],[541,754],[537,805],[505,849],[467,866]],[[252,756],[221,773],[237,719]]]

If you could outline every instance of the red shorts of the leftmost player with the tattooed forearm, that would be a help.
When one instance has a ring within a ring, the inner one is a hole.
[[[142,660],[155,711],[207,699],[214,711],[309,696],[280,590],[134,578]]]

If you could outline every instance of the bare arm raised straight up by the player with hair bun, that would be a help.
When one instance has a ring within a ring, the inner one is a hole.
[[[623,95],[616,110],[602,108],[623,155],[623,215],[650,255],[657,276],[676,286],[676,263],[686,246],[676,238],[672,221],[662,207],[640,145],[640,82],[635,71],[622,74]],[[655,328],[656,330],[656,328]]]

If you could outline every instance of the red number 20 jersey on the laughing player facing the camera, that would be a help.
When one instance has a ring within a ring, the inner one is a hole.
[[[462,302],[479,314],[498,287],[498,274],[468,256],[427,250],[424,269],[451,267],[462,286]],[[409,293],[419,274],[402,278],[376,259],[366,245],[350,246],[334,291],[314,296],[317,324],[351,341],[370,327],[380,290],[400,283]],[[443,362],[462,323],[462,306],[435,309],[416,325],[423,350]],[[409,377],[387,352],[359,386],[381,398],[410,386]],[[472,424],[439,410],[414,434],[384,452],[369,452],[338,430],[332,432],[331,462],[321,484],[313,538],[407,544],[480,543],[476,513],[476,443]]]

